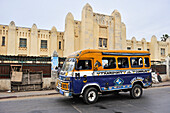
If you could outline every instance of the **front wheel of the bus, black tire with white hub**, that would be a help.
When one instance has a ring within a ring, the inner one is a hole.
[[[98,100],[98,91],[94,87],[87,88],[83,93],[83,100],[86,104],[93,104]]]

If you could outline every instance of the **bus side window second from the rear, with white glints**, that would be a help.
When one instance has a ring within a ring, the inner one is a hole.
[[[141,57],[132,57],[130,58],[130,62],[132,68],[143,67],[143,60]]]

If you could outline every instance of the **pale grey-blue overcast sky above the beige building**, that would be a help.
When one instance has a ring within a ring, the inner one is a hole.
[[[81,20],[82,8],[89,3],[93,12],[111,15],[117,9],[126,25],[126,38],[147,41],[155,35],[170,35],[170,0],[0,0],[0,24],[11,21],[19,27],[64,31],[65,17],[71,12]]]

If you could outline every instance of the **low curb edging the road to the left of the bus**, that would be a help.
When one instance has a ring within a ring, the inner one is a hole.
[[[0,100],[9,99],[9,98],[22,98],[22,97],[45,96],[45,95],[57,95],[57,94],[59,94],[59,93],[34,94],[34,95],[22,95],[22,96],[6,96],[6,97],[0,97]]]

